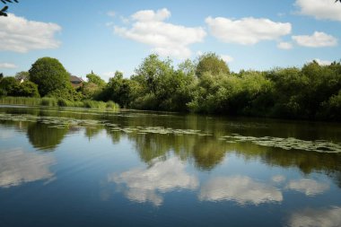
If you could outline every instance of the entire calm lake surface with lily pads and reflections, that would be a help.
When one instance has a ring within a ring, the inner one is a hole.
[[[0,106],[0,226],[341,226],[341,125]]]

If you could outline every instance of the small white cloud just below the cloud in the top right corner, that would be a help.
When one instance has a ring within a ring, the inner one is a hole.
[[[307,48],[325,48],[337,46],[337,38],[320,31],[315,31],[311,36],[293,36],[293,40],[298,45]]]

